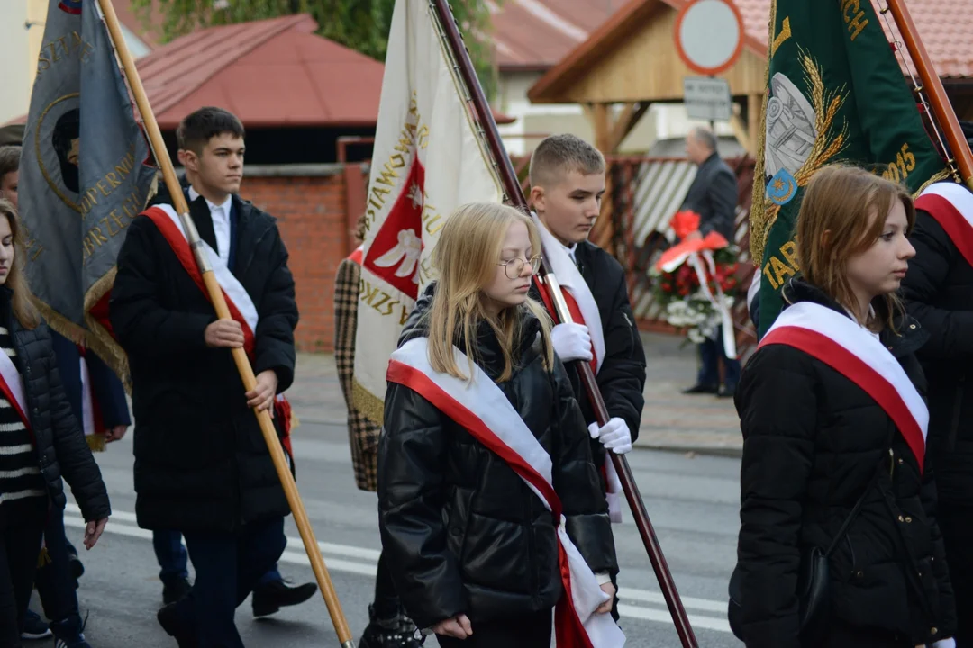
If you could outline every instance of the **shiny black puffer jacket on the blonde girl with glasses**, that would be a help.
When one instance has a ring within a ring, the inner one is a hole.
[[[422,318],[429,303],[427,292],[400,343],[426,334]],[[552,456],[572,541],[595,573],[615,573],[605,495],[581,412],[560,361],[553,375],[544,368],[540,324],[525,318],[520,360],[513,377],[498,386]],[[482,368],[499,375],[503,358],[487,324],[477,345]],[[553,607],[562,591],[558,540],[537,495],[413,390],[390,383],[384,418],[378,444],[382,549],[418,627],[465,613],[476,628],[477,622]]]

